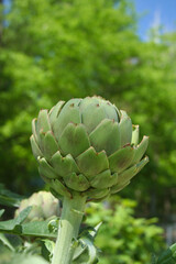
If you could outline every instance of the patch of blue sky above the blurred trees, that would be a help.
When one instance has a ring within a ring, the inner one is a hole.
[[[151,26],[162,24],[164,31],[176,30],[176,0],[133,0],[138,13],[144,14],[140,19],[139,34],[146,40]],[[145,12],[146,11],[146,12]]]

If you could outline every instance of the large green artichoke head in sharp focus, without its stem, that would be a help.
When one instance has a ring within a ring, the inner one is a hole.
[[[144,165],[148,138],[100,97],[58,101],[32,121],[31,145],[38,172],[61,197],[99,200],[124,188]]]

